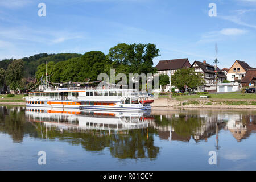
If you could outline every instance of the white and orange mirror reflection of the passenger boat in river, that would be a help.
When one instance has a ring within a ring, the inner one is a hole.
[[[148,113],[114,112],[114,111],[82,111],[80,109],[54,109],[45,107],[26,107],[26,118],[30,122],[43,123],[45,127],[56,127],[56,130],[103,130],[122,131],[131,129],[146,129],[148,127]]]

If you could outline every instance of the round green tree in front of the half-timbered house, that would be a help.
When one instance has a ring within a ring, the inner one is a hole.
[[[188,88],[197,88],[197,86],[204,85],[203,74],[195,72],[193,68],[178,69],[173,76],[171,76],[172,86],[179,89],[184,89],[187,85]]]

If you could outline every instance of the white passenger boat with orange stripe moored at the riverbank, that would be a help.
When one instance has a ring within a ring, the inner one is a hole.
[[[115,88],[46,88],[30,92],[27,106],[85,110],[146,110],[154,102],[147,92]]]

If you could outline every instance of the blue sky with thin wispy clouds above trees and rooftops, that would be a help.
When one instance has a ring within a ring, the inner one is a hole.
[[[46,17],[38,16],[41,2]],[[154,43],[154,65],[185,57],[212,64],[217,43],[220,68],[235,60],[256,68],[255,19],[256,0],[0,0],[0,59]]]

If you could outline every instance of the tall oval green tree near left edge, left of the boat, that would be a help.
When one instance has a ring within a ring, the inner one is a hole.
[[[22,60],[14,60],[8,65],[6,70],[5,82],[10,86],[11,90],[16,90],[19,88],[24,73],[24,63]]]

